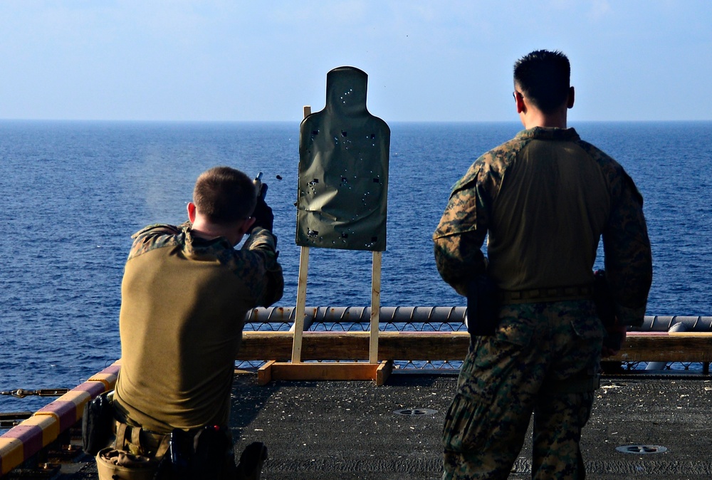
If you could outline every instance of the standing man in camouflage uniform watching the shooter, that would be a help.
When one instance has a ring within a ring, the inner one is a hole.
[[[433,236],[442,278],[468,296],[471,333],[443,478],[506,479],[533,414],[532,478],[583,479],[606,335],[592,268],[602,238],[612,330],[624,337],[642,324],[652,280],[643,199],[621,165],[567,128],[564,54],[520,58],[513,95],[525,130],[456,182]]]

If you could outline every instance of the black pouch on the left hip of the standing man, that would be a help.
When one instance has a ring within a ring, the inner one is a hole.
[[[494,335],[498,324],[497,286],[486,275],[467,285],[467,331],[471,337]]]

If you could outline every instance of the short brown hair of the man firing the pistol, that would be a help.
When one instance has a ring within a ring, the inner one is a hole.
[[[257,192],[250,177],[230,167],[213,167],[195,182],[193,203],[214,224],[246,219],[255,209]]]

